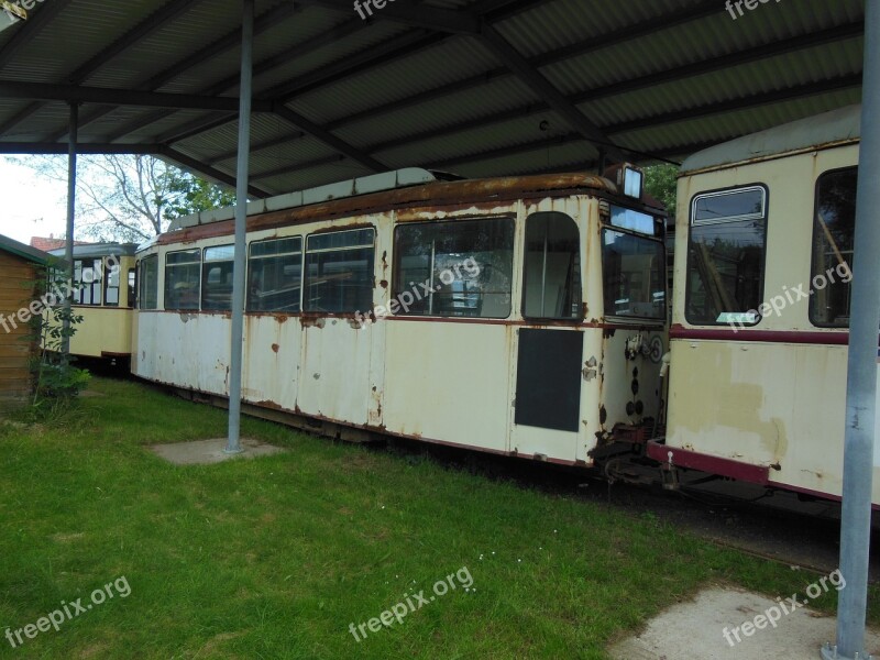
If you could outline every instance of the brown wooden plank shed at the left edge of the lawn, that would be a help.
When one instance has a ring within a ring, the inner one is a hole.
[[[29,361],[37,346],[31,332],[29,307],[36,296],[48,255],[0,235],[0,409],[22,404],[31,394]]]

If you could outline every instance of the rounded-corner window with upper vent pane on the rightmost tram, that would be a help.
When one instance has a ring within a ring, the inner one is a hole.
[[[755,324],[763,296],[767,188],[697,195],[691,204],[685,317]]]

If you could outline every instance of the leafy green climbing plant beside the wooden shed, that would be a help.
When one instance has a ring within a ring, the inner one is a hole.
[[[58,263],[51,261],[46,278],[33,283],[37,296],[50,305],[43,314],[31,318],[31,332],[24,338],[40,345],[40,353],[31,363],[34,395],[30,413],[34,419],[54,418],[67,410],[91,377],[86,370],[72,365],[69,355],[62,352],[65,339],[76,333],[76,326],[82,322],[82,317],[73,308],[65,309],[58,299],[59,292],[69,295],[69,286]]]

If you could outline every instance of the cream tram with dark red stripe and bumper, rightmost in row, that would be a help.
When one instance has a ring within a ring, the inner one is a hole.
[[[648,449],[668,471],[839,497],[859,121],[849,107],[684,163],[668,429]]]

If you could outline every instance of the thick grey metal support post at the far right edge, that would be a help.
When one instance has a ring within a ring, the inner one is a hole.
[[[877,408],[877,339],[880,327],[880,0],[868,0],[865,16],[861,145],[856,200],[851,315],[846,384],[840,573],[846,586],[837,606],[837,646],[826,660],[867,660],[868,553]]]

